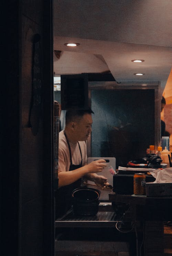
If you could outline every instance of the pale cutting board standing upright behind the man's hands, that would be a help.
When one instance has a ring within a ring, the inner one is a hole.
[[[99,172],[97,174],[105,176],[107,178],[107,182],[113,187],[113,175],[109,172],[108,166],[112,166],[114,168],[114,170],[116,170],[116,158],[115,157],[88,157],[87,163],[89,164],[98,159],[106,160],[107,166],[103,169],[102,172]],[[91,185],[88,185],[88,187],[96,188],[101,192],[100,197],[99,197],[100,201],[108,201],[109,200],[109,193],[110,193],[109,189],[101,190],[100,187],[95,187],[94,186],[95,183],[92,181],[88,181],[88,184],[91,184]]]

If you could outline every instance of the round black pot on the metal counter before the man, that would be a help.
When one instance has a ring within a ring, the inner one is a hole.
[[[100,191],[95,188],[76,188],[72,192],[75,215],[96,215],[99,206]]]

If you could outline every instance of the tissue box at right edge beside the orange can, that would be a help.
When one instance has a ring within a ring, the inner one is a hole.
[[[146,182],[146,196],[172,196],[172,183]]]

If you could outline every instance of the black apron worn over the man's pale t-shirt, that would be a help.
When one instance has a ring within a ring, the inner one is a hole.
[[[71,154],[71,147],[69,145],[69,141],[67,139],[66,133],[64,131],[64,135],[66,137],[66,141],[68,144],[69,148],[69,156],[70,156],[70,167],[69,171],[73,171],[75,169],[78,169],[82,167],[83,164],[83,159],[82,159],[82,152],[80,149],[80,145],[78,142],[79,146],[79,151],[80,151],[80,156],[81,156],[81,162],[78,165],[72,164],[72,154]],[[75,188],[80,187],[82,179],[80,178],[79,180],[75,181],[72,184],[60,187],[56,192],[55,192],[55,217],[59,218],[62,215],[64,215],[72,206],[72,191]]]

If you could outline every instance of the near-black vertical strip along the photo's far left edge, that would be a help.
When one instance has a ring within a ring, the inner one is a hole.
[[[19,242],[19,4],[4,4],[2,8],[4,13],[7,9],[11,13],[2,26],[0,86],[0,254],[5,256],[18,252]]]

